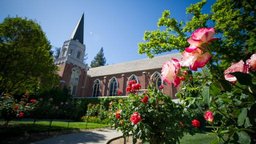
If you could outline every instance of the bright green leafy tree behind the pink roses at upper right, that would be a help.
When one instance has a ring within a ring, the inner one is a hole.
[[[256,1],[254,0],[217,0],[211,6],[211,13],[203,14],[202,7],[206,0],[191,4],[186,13],[189,20],[178,22],[171,18],[169,11],[164,11],[157,23],[166,27],[166,31],[145,31],[146,43],[139,43],[139,54],[146,53],[153,58],[162,52],[171,50],[184,51],[189,47],[187,39],[198,28],[214,27],[221,39],[210,43],[211,51],[216,53],[221,68],[229,67],[230,62],[246,60],[255,52],[256,47]]]

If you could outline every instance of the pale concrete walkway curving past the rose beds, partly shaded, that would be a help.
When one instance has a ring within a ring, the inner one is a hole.
[[[122,136],[122,132],[113,129],[79,132],[61,135],[31,144],[106,144],[110,139]]]

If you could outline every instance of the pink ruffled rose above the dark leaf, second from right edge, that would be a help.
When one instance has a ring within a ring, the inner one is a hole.
[[[225,79],[232,83],[236,83],[236,77],[231,74],[227,74],[231,72],[249,73],[249,65],[244,65],[243,60],[240,60],[238,63],[231,63],[231,67],[224,71]]]

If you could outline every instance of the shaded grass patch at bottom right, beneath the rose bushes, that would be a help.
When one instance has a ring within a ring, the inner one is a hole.
[[[217,135],[206,135],[207,133],[196,133],[196,135],[184,134],[184,137],[180,139],[180,144],[209,144]],[[224,136],[226,139],[227,136]],[[149,144],[149,142],[144,142],[143,144]],[[222,144],[222,142],[217,142],[216,144]]]

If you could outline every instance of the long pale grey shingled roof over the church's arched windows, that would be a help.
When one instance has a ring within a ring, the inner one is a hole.
[[[140,60],[118,63],[113,65],[95,67],[95,68],[90,68],[87,71],[87,74],[90,75],[91,77],[96,77],[96,76],[105,76],[105,75],[112,75],[112,74],[124,74],[124,73],[134,72],[134,71],[159,69],[159,68],[162,68],[162,64],[165,61],[171,61],[172,57],[177,60],[180,60],[181,56],[182,55],[180,53],[173,53],[173,54],[157,56],[152,59],[146,58],[146,59],[140,59]]]

